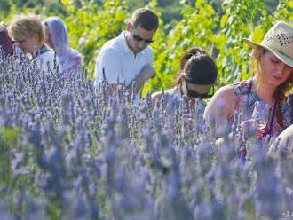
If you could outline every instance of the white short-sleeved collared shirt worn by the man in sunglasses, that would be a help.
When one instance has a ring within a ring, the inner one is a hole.
[[[117,83],[119,77],[119,82],[128,86],[144,66],[153,63],[154,51],[149,46],[134,56],[126,43],[125,32],[105,43],[99,51],[95,67],[96,85],[102,83],[104,69],[108,83]]]

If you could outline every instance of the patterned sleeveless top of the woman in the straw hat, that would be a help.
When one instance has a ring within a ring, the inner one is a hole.
[[[251,90],[252,78],[247,81],[242,81],[240,83],[232,84],[235,94],[235,113],[242,113],[242,121],[251,118],[255,103],[258,101],[260,106],[265,106],[265,101],[257,96],[257,94]],[[266,129],[269,130],[272,137],[278,136],[284,129],[281,128],[277,120],[277,107],[276,103],[270,107],[270,115],[267,122]],[[285,128],[289,127],[291,124],[291,106],[289,103],[289,98],[285,98],[281,104],[281,110],[283,114],[283,123]],[[232,124],[234,120],[234,115],[228,119],[229,124]]]

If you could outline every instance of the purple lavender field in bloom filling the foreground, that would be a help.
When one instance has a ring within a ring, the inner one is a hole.
[[[266,140],[242,141],[240,117],[218,147],[197,103],[153,109],[86,74],[0,55],[1,219],[293,219],[286,147],[273,162]]]

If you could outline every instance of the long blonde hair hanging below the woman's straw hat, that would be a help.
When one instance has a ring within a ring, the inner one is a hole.
[[[264,67],[264,55],[267,52],[267,50],[261,46],[257,46],[253,49],[253,54],[250,58],[250,64],[252,67],[252,70],[254,74],[257,77],[258,85],[260,86],[261,83],[264,82],[265,73],[263,71]],[[277,119],[278,123],[280,124],[281,128],[284,128],[284,122],[283,122],[283,114],[282,114],[282,103],[284,99],[286,98],[286,94],[289,92],[293,84],[293,73],[289,76],[289,78],[284,82],[281,83],[277,89],[273,93],[273,98],[277,99]]]

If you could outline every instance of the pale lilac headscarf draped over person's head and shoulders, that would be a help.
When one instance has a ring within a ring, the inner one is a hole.
[[[60,59],[63,72],[75,70],[83,64],[83,56],[69,46],[68,31],[63,20],[57,16],[49,17],[44,20],[51,33],[53,49]]]

